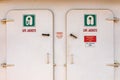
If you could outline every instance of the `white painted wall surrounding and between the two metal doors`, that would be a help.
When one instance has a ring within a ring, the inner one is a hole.
[[[66,45],[65,45],[65,15],[70,9],[110,9],[114,16],[120,18],[120,1],[117,0],[82,0],[82,1],[0,1],[0,20],[12,9],[51,9],[54,13],[55,32],[64,32],[62,39],[55,37],[55,80],[65,80]],[[0,23],[0,63],[5,62],[5,24]],[[106,31],[107,32],[107,31]],[[120,62],[120,21],[115,23],[115,54]],[[116,80],[120,79],[120,68],[116,69]],[[5,79],[5,70],[0,68],[0,80]]]

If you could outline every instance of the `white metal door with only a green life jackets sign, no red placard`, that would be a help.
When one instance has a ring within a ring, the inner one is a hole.
[[[7,19],[7,80],[53,80],[52,12],[12,10]]]

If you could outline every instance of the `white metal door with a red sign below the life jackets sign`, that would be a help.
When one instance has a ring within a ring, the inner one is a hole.
[[[67,80],[114,80],[114,22],[109,10],[67,13]]]

